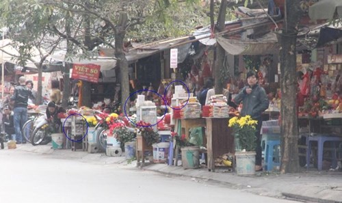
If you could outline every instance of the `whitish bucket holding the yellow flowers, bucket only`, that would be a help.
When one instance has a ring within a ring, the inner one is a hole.
[[[237,175],[255,174],[255,152],[235,152]]]

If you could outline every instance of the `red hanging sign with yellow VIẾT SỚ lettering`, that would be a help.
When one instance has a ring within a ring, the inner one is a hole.
[[[98,83],[101,66],[95,64],[73,64],[72,79]]]

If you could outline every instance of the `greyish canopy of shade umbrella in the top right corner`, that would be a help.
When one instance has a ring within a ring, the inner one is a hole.
[[[342,18],[342,0],[321,0],[308,8],[308,16],[316,20],[332,20],[335,14]]]

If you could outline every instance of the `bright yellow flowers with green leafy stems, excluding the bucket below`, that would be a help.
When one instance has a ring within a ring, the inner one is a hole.
[[[233,117],[228,122],[228,127],[233,127],[235,133],[235,150],[254,151],[257,143],[255,132],[257,131],[255,126],[257,120],[252,120],[250,116]]]

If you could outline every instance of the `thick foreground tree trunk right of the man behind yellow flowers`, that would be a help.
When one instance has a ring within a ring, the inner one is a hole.
[[[281,88],[281,166],[282,173],[300,171],[298,157],[298,117],[296,108],[297,77],[295,27],[300,16],[298,1],[288,0],[285,14],[287,23],[278,35],[280,42],[280,88]]]

